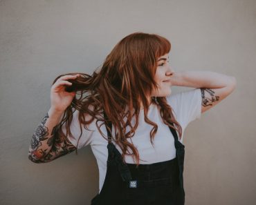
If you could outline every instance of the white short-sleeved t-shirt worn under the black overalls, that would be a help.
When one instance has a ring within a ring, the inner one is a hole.
[[[181,125],[181,128],[184,130],[194,119],[199,119],[201,117],[201,90],[200,88],[194,88],[192,90],[188,90],[185,92],[180,92],[175,95],[170,95],[167,97],[167,103],[170,104],[172,109],[174,110],[174,116],[176,120]],[[147,124],[144,121],[144,110],[140,110],[140,115],[138,117],[138,128],[136,129],[136,133],[134,137],[131,138],[134,146],[138,149],[138,153],[140,155],[140,164],[152,164],[156,162],[163,162],[170,159],[174,159],[176,157],[176,149],[174,146],[174,137],[168,128],[167,125],[163,123],[160,112],[155,104],[151,104],[149,106],[149,110],[147,113],[147,117],[154,121],[158,125],[157,133],[154,137],[154,146],[150,143],[150,131],[153,126]],[[101,190],[104,178],[107,173],[107,139],[104,139],[98,128],[95,125],[96,119],[88,125],[89,130],[86,130],[83,126],[82,136],[80,138],[79,144],[77,146],[78,149],[91,145],[91,150],[93,151],[93,155],[98,163],[99,168],[99,190]],[[131,121],[133,124],[134,121]],[[134,125],[134,124],[133,124]],[[68,136],[68,139],[71,143],[76,146],[77,139],[80,136],[80,126],[78,121],[78,111],[75,110],[73,113],[73,120],[71,122],[71,133],[75,137],[75,139]],[[107,136],[106,127],[103,125],[100,128],[102,133]],[[66,128],[62,126],[62,130],[66,133]],[[112,128],[112,133],[115,133]],[[181,137],[181,142],[183,141],[183,135]],[[114,141],[113,141],[113,144]],[[115,144],[116,145],[116,144]],[[118,145],[116,148],[122,153],[122,150]],[[125,162],[129,164],[134,164],[134,160],[131,156],[125,157]]]

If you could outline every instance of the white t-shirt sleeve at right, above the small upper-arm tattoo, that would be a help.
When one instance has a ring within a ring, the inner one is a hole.
[[[167,97],[167,103],[174,110],[176,120],[183,128],[191,121],[201,118],[201,89],[195,88]]]

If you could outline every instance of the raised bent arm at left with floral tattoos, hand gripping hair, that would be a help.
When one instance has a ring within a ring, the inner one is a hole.
[[[75,79],[78,76],[64,75],[53,84],[51,88],[51,108],[37,126],[31,139],[28,159],[32,162],[50,162],[75,150],[75,146],[68,139],[60,139],[55,134],[64,111],[75,97],[75,92],[66,92],[66,86],[72,85],[67,80]]]

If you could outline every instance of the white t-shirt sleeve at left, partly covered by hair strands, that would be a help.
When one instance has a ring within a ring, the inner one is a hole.
[[[77,148],[80,149],[84,146],[91,144],[93,130],[90,130],[90,128],[89,128],[89,130],[86,130],[86,128],[84,128],[84,125],[82,124],[82,135],[81,135],[80,122],[79,122],[78,116],[79,116],[79,111],[75,110],[75,112],[73,113],[73,119],[72,119],[71,125],[70,125],[70,130],[71,130],[71,134],[73,135],[73,137],[68,134],[67,134],[67,137],[68,137],[69,141],[71,141],[73,146],[75,146],[75,147],[77,146]],[[66,124],[62,125],[62,131],[66,135]],[[81,137],[80,137],[80,135],[81,135]],[[77,144],[78,139],[79,139],[79,142]]]

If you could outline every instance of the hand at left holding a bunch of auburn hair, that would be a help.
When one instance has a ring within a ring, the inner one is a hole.
[[[77,75],[64,75],[57,79],[51,87],[51,108],[58,112],[64,112],[66,108],[71,104],[75,97],[75,92],[66,92],[66,86],[71,86],[72,83],[68,82],[68,79],[76,79]]]

